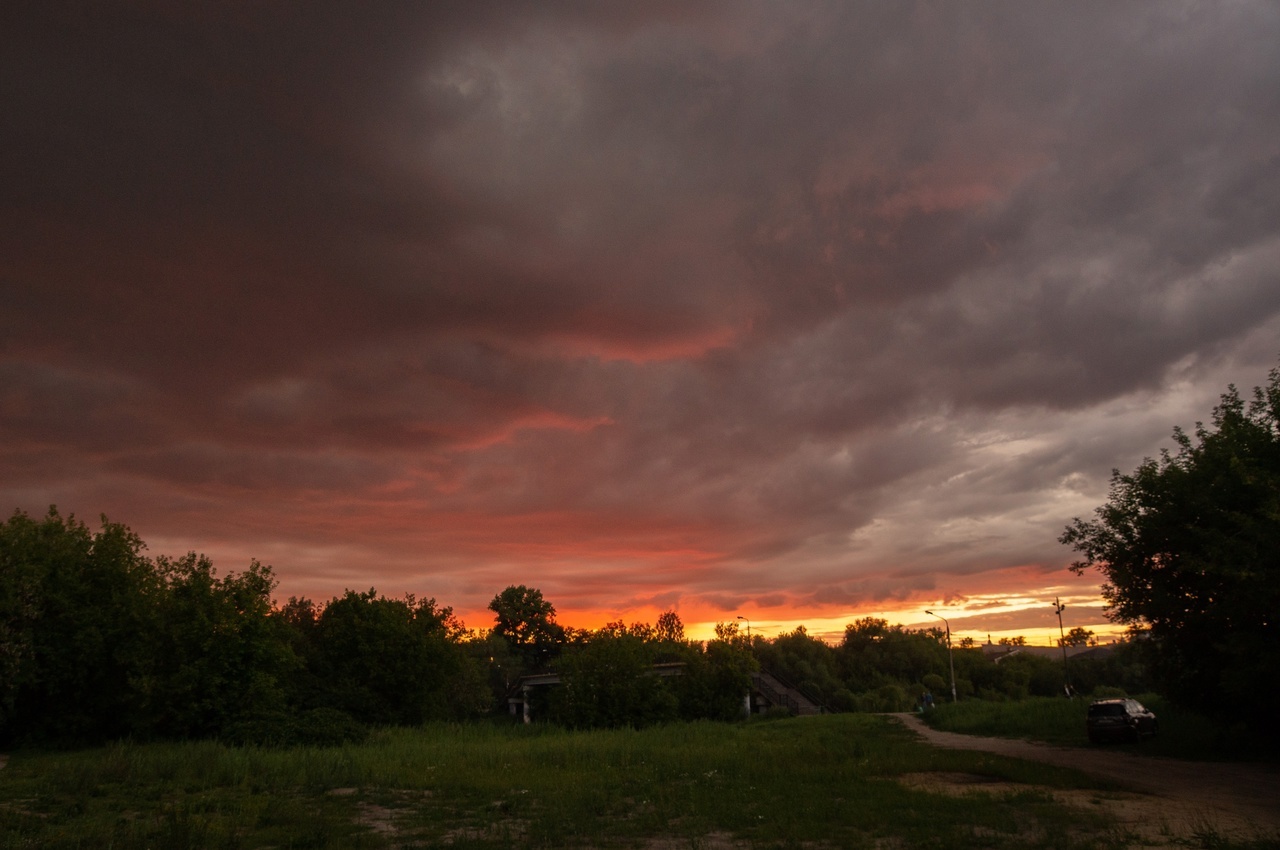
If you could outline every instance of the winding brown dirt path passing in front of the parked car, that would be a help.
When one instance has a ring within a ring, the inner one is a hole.
[[[1234,837],[1280,837],[1280,771],[1253,764],[1179,762],[1100,748],[1066,748],[1004,737],[940,732],[914,714],[895,714],[929,744],[982,750],[1106,777],[1129,795],[1132,824],[1158,819],[1162,830],[1192,835],[1210,827]]]

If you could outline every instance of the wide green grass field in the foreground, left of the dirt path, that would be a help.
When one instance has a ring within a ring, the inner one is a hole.
[[[955,798],[892,781],[927,772],[1027,789]],[[1124,844],[1103,813],[1055,803],[1044,787],[1096,782],[933,749],[873,716],[600,732],[440,725],[335,749],[17,753],[0,771],[0,847]]]

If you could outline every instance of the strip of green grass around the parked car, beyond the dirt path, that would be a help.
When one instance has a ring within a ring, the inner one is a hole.
[[[1222,726],[1199,714],[1180,710],[1153,694],[1137,696],[1160,719],[1160,734],[1138,742],[1106,744],[1117,751],[1189,760],[1274,762],[1276,748],[1249,736],[1243,727]],[[942,703],[925,716],[934,728],[965,735],[991,735],[1047,741],[1062,746],[1094,746],[1084,731],[1088,698],[1032,699],[993,703],[965,700]]]

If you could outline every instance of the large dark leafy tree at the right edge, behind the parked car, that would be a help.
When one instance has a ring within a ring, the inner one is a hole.
[[[1108,616],[1149,630],[1166,695],[1265,728],[1280,681],[1280,370],[1245,405],[1229,387],[1212,425],[1112,472],[1096,518],[1060,538],[1102,572]]]

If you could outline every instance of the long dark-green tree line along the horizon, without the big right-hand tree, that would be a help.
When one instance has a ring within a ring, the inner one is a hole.
[[[762,664],[831,710],[904,710],[923,689],[942,693],[947,671],[942,632],[881,620],[850,625],[835,646],[803,627],[748,639],[736,622],[701,643],[673,611],[567,627],[517,585],[493,598],[492,629],[470,630],[433,598],[371,589],[275,604],[269,566],[219,575],[207,557],[145,549],[124,525],[104,517],[95,531],[56,508],[0,525],[0,741],[349,740],[376,725],[503,716],[535,671],[561,685],[531,695],[534,714],[580,728],[733,719]],[[681,675],[655,676],[662,664]],[[1044,659],[997,667],[961,648],[956,670],[965,696],[1061,690]]]

